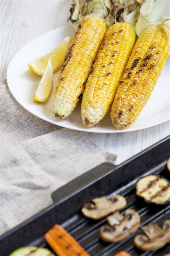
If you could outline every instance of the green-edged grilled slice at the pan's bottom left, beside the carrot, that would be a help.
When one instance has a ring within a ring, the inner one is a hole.
[[[55,256],[51,251],[46,248],[40,248],[36,246],[31,247],[21,247],[14,252],[12,252],[9,256]]]

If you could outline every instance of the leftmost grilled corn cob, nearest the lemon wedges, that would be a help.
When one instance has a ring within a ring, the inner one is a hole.
[[[97,17],[84,19],[77,28],[53,94],[56,117],[66,118],[79,102],[106,30],[104,20]]]

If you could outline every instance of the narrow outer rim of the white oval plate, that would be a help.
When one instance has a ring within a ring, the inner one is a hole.
[[[8,64],[8,67],[7,67],[7,70],[6,70],[6,80],[7,80],[7,85],[8,85],[9,90],[10,90],[10,86],[9,86],[9,84],[10,84],[10,78],[9,78],[10,66],[12,65],[14,58],[16,58],[16,56],[20,53],[20,51],[21,51],[24,47],[26,47],[28,44],[30,44],[32,41],[38,39],[39,37],[41,37],[41,36],[43,36],[43,35],[46,35],[46,34],[48,34],[48,33],[50,33],[50,32],[54,32],[54,31],[57,31],[57,30],[59,30],[59,29],[63,29],[63,28],[67,28],[67,27],[71,27],[71,24],[68,24],[68,25],[62,26],[62,27],[58,27],[58,28],[55,28],[55,29],[53,29],[53,30],[49,30],[49,31],[46,31],[46,32],[42,33],[41,35],[39,35],[39,36],[35,37],[34,39],[30,40],[29,42],[27,42],[25,45],[22,46],[22,48],[20,48],[20,49],[14,54],[14,56],[11,58],[11,60],[10,60],[10,62],[9,62],[9,64]],[[110,129],[108,129],[108,128],[102,128],[102,130],[98,130],[99,127],[97,127],[97,129],[95,129],[95,127],[93,126],[93,129],[91,129],[92,127],[85,127],[85,128],[82,128],[82,127],[77,127],[76,125],[75,125],[75,127],[69,127],[68,124],[65,125],[65,124],[63,123],[62,125],[60,125],[60,124],[56,123],[56,122],[53,121],[53,120],[48,120],[49,118],[46,117],[46,116],[40,117],[39,114],[35,113],[34,111],[30,111],[30,110],[28,109],[28,107],[25,107],[25,106],[23,105],[23,103],[21,103],[20,100],[17,98],[17,96],[16,96],[16,95],[14,96],[14,94],[13,94],[13,92],[12,92],[11,90],[10,90],[10,93],[13,95],[14,99],[15,99],[24,109],[26,109],[29,113],[32,113],[34,116],[37,116],[38,118],[40,118],[40,119],[42,119],[42,120],[44,120],[44,121],[46,121],[46,122],[52,123],[52,124],[54,124],[54,125],[57,125],[57,126],[60,126],[60,127],[66,128],[66,129],[70,129],[70,130],[75,130],[75,131],[82,131],[82,132],[87,132],[87,133],[102,133],[102,134],[103,134],[103,133],[107,133],[107,134],[109,134],[109,133],[128,133],[128,132],[140,131],[140,130],[144,130],[144,129],[147,129],[147,128],[150,128],[150,127],[154,127],[154,126],[156,126],[156,125],[159,125],[159,124],[161,124],[161,123],[164,123],[164,122],[167,122],[167,121],[170,120],[170,116],[169,116],[169,118],[166,118],[164,121],[159,121],[159,122],[153,123],[152,125],[149,125],[149,126],[148,126],[148,125],[145,125],[145,126],[142,126],[142,127],[140,127],[140,128],[130,128],[130,127],[129,127],[128,129],[124,129],[124,130],[116,130],[116,129],[114,129],[114,128],[113,128],[113,130],[112,130],[112,128],[110,128]]]

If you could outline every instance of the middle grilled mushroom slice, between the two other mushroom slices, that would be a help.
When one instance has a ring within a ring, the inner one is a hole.
[[[118,243],[140,227],[140,216],[133,209],[126,210],[124,216],[115,212],[107,218],[107,221],[110,225],[100,228],[100,237],[105,242]]]

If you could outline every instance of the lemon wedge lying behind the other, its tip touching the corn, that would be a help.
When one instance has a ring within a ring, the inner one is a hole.
[[[69,44],[71,42],[71,37],[67,36],[61,43],[50,53],[35,59],[33,62],[28,63],[28,67],[37,75],[43,76],[49,57],[51,57],[51,64],[53,73],[57,72],[64,61],[64,57],[69,48]]]

